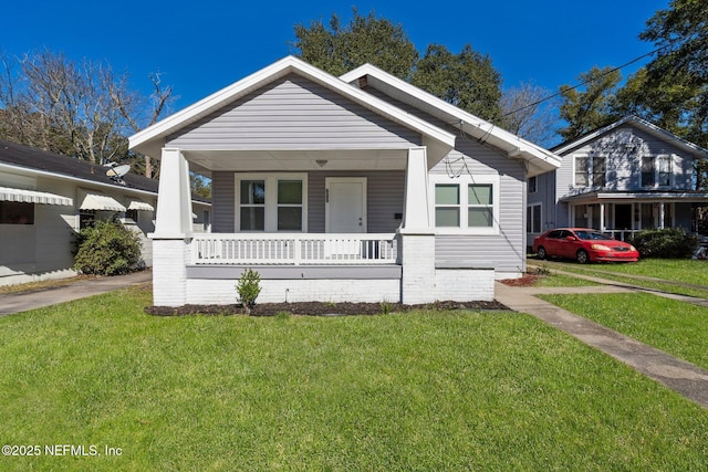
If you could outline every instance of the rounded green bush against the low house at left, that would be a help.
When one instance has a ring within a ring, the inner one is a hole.
[[[79,232],[74,270],[91,275],[121,275],[140,266],[140,240],[118,221],[96,221]]]

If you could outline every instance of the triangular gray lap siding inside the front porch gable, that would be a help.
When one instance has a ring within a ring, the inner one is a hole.
[[[420,136],[291,74],[168,138],[181,149],[399,149]]]

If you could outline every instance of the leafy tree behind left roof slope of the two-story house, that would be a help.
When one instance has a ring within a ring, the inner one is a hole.
[[[561,118],[568,123],[559,134],[563,139],[574,139],[587,132],[613,120],[615,92],[622,80],[620,71],[611,67],[593,67],[580,74],[579,82],[584,91],[570,85],[561,86]]]

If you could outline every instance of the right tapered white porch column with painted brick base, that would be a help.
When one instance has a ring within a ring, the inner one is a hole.
[[[431,303],[435,290],[435,230],[429,204],[428,158],[425,147],[408,149],[400,238],[400,301]]]

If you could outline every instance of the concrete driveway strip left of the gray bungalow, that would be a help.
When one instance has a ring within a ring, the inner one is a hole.
[[[27,312],[28,310],[43,308],[58,303],[71,302],[131,285],[138,285],[152,280],[152,271],[140,271],[127,275],[84,279],[72,282],[69,285],[33,292],[0,295],[0,316]]]

